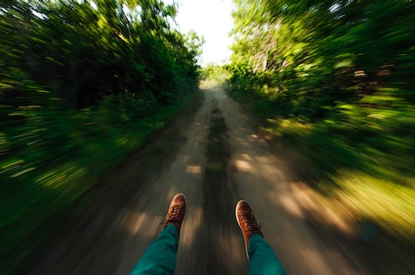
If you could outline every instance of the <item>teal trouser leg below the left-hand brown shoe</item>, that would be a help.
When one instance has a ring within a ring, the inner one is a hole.
[[[150,244],[130,275],[173,275],[178,247],[177,228],[169,225]]]

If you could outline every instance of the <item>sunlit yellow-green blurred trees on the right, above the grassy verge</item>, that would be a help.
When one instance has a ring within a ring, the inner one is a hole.
[[[327,113],[322,105],[378,87],[413,87],[412,1],[235,5],[231,79],[241,88],[266,87],[291,103],[294,115],[320,117]]]

